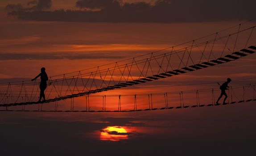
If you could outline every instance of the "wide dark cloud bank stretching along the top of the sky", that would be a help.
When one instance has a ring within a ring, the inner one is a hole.
[[[50,4],[50,0],[42,1],[38,2],[37,5],[40,4],[41,7],[37,6],[37,9],[49,8],[50,5],[46,4]],[[75,22],[171,23],[248,20],[255,16],[256,1],[157,0],[155,4],[149,4],[146,2],[124,3],[121,0],[78,0],[75,5],[86,9],[66,11],[64,9],[54,11],[17,9],[9,12],[9,15],[23,20]],[[95,8],[99,10],[92,11]]]

